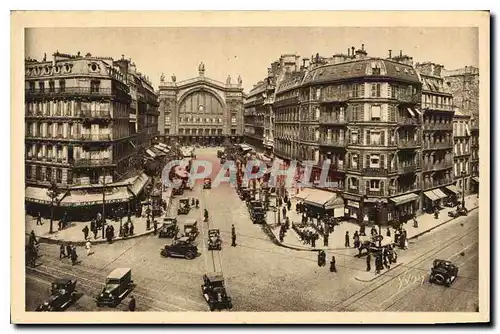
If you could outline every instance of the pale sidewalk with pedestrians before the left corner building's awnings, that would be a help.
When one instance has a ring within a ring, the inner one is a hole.
[[[167,201],[167,210],[169,212],[172,207],[172,191],[171,189],[167,189],[167,191],[163,192],[163,198]],[[145,210],[143,210],[145,211]],[[120,221],[114,221],[111,219],[107,219],[107,225],[113,225],[115,228],[116,237],[113,241],[119,241],[124,239],[132,239],[137,238],[143,235],[148,235],[153,233],[153,224],[151,224],[150,229],[146,229],[146,215],[143,214],[141,217],[131,217],[132,222],[134,223],[134,235],[128,237],[118,237],[118,231],[120,230]],[[157,217],[158,220],[158,217]],[[122,223],[125,224],[127,218],[123,218]],[[57,228],[57,220],[53,221],[53,230],[54,233],[50,234],[50,219],[42,219],[43,225],[36,225],[36,218],[26,215],[25,216],[25,226],[26,226],[26,234],[29,234],[31,231],[35,232],[38,241],[45,243],[60,243],[60,242],[71,242],[75,245],[84,245],[85,241],[83,239],[84,235],[82,229],[87,225],[90,229],[90,221],[72,221],[71,224],[66,227],[64,230],[58,231]],[[99,230],[97,233],[97,238],[94,239],[94,234],[92,232],[89,233],[89,240],[92,244],[100,244],[106,243],[107,240],[102,238],[102,230]]]

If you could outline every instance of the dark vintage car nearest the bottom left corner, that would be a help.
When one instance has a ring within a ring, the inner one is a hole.
[[[76,280],[60,278],[52,282],[50,297],[36,308],[37,312],[64,311],[75,301]]]

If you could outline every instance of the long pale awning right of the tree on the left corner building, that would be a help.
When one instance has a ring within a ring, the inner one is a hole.
[[[61,206],[90,206],[90,205],[102,205],[102,193],[86,193],[82,190],[71,191],[69,195],[64,197],[61,201]],[[104,200],[106,204],[112,203],[125,203],[132,199],[132,195],[126,187],[111,188],[106,189],[106,195]]]

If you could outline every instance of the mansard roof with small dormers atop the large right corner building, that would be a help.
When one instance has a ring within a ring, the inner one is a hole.
[[[371,76],[372,67],[379,67],[380,76],[382,77],[420,83],[418,74],[411,65],[397,63],[388,59],[365,58],[316,67],[306,74],[303,84]]]

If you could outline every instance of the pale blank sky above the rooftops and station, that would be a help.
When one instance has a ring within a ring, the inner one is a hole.
[[[281,54],[310,58],[347,53],[365,44],[368,56],[404,54],[415,62],[432,61],[446,69],[478,66],[477,28],[356,28],[356,27],[224,27],[224,28],[29,28],[25,30],[25,56],[41,60],[59,51],[82,55],[131,58],[137,69],[158,88],[160,75],[177,81],[205,76],[236,83],[245,92],[267,74]]]

